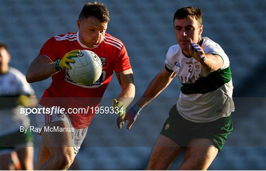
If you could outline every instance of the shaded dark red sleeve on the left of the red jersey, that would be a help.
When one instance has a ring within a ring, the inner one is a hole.
[[[59,50],[55,41],[54,37],[47,40],[42,46],[39,55],[45,55],[55,62],[57,60]]]

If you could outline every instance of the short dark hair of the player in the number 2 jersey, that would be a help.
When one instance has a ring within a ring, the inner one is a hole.
[[[201,11],[201,9],[191,7],[191,6],[187,6],[187,7],[183,7],[183,8],[178,9],[174,13],[173,22],[175,19],[180,20],[180,19],[184,19],[188,16],[195,17],[196,20],[198,21],[199,25],[202,25],[202,11]]]

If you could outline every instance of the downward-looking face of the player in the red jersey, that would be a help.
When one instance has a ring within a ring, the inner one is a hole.
[[[89,48],[98,46],[103,40],[107,24],[108,23],[101,23],[95,17],[78,20],[77,27],[81,43]]]

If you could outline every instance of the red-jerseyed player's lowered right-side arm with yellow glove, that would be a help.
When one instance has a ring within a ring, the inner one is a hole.
[[[135,85],[132,69],[116,73],[119,84],[121,85],[121,93],[117,99],[113,99],[113,107],[120,109],[117,118],[117,126],[122,128],[123,119],[126,114],[126,108],[131,104],[135,96]]]

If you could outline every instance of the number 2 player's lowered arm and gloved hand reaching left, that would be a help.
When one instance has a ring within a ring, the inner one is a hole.
[[[141,109],[157,97],[171,83],[174,77],[175,73],[166,71],[165,67],[155,76],[142,97],[127,112],[124,118],[125,121],[129,121],[127,129],[132,127]]]

